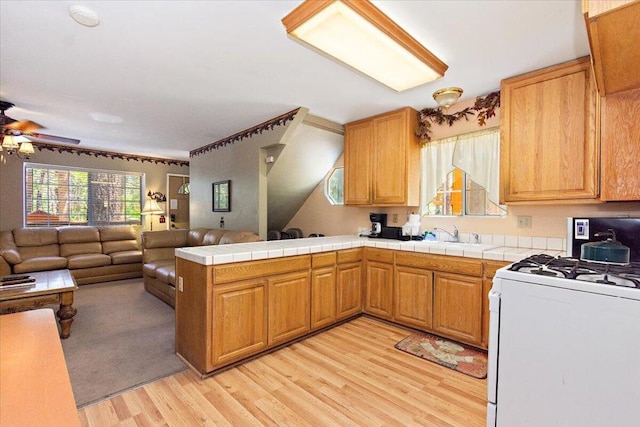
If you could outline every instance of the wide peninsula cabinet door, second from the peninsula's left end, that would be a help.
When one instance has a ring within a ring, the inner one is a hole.
[[[283,274],[269,281],[269,345],[309,332],[309,272]]]

